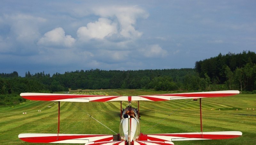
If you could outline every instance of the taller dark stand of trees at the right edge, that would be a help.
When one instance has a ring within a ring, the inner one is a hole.
[[[209,77],[211,84],[223,84],[229,90],[256,90],[255,52],[220,53],[216,57],[197,61],[195,69],[200,78]]]

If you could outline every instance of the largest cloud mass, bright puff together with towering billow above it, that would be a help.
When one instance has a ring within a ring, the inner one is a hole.
[[[138,6],[104,6],[92,8],[98,21],[90,22],[78,28],[76,34],[80,40],[107,40],[118,43],[140,38],[142,32],[135,29],[139,18],[147,18],[148,13]]]

